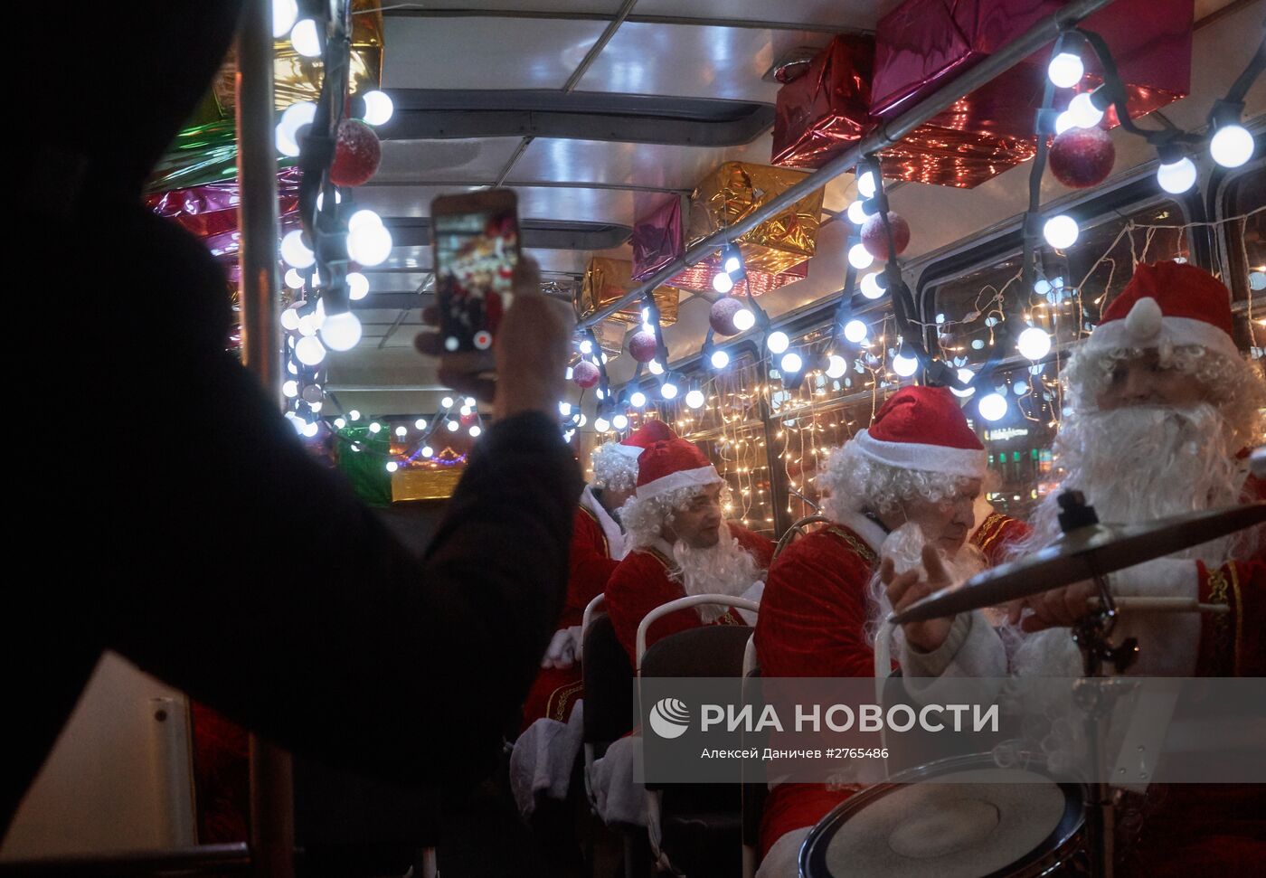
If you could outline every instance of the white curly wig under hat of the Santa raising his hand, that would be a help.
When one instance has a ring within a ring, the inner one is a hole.
[[[852,442],[832,452],[818,473],[818,487],[827,495],[822,512],[832,521],[856,512],[893,512],[910,500],[937,504],[965,490],[971,481],[967,476],[877,463]]]

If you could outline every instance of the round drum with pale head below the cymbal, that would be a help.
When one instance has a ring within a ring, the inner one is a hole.
[[[989,754],[942,759],[894,774],[827,815],[800,848],[800,874],[1077,874],[1085,867],[1085,800],[1081,784],[1042,768],[998,768]]]

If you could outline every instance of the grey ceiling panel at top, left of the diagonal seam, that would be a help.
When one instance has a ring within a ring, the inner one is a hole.
[[[382,82],[392,89],[562,89],[601,20],[389,16]]]

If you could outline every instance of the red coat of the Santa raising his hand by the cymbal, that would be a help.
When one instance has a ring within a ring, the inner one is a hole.
[[[851,524],[833,524],[791,543],[770,569],[756,622],[762,677],[874,677],[866,592],[885,534],[861,516]],[[994,512],[968,541],[993,564],[1028,533],[1024,522]],[[782,783],[771,789],[761,816],[761,855],[785,832],[813,826],[860,788]]]

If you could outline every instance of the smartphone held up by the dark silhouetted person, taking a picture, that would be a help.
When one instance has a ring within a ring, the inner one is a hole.
[[[487,350],[519,262],[514,191],[441,196],[430,202],[430,229],[444,349]]]

